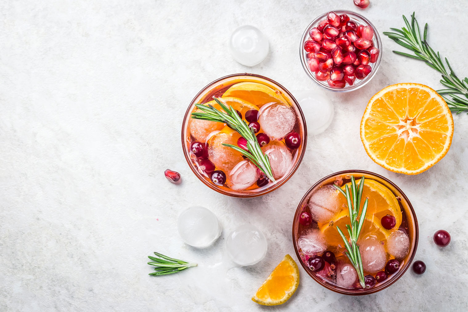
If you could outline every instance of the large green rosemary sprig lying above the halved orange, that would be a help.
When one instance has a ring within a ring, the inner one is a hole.
[[[447,58],[445,58],[445,62],[450,70],[450,72],[447,72],[439,52],[436,54],[427,43],[427,23],[424,26],[423,37],[421,39],[421,31],[414,17],[414,12],[413,15],[411,15],[411,24],[408,22],[405,15],[403,15],[403,20],[405,21],[406,28],[390,28],[394,32],[384,32],[383,34],[387,35],[397,44],[411,50],[414,55],[400,51],[393,52],[424,61],[427,65],[441,73],[442,79],[440,83],[447,88],[437,90],[437,93],[444,98],[452,112],[460,114],[466,111],[468,114],[468,78],[465,77],[465,79],[460,80],[453,72],[452,66],[448,63]]]

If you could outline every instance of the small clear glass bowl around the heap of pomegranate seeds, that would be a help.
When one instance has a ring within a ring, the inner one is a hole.
[[[311,38],[309,36],[310,29],[312,29],[314,27],[317,27],[319,22],[321,22],[322,20],[326,20],[327,15],[331,11],[328,11],[327,13],[324,13],[324,14],[320,15],[319,17],[317,17],[316,19],[314,19],[314,21],[312,21],[309,24],[309,26],[307,26],[306,30],[304,31],[304,34],[302,35],[302,39],[300,41],[300,47],[299,47],[299,54],[300,54],[301,64],[302,64],[302,67],[304,68],[304,71],[307,73],[307,76],[309,76],[309,78],[312,79],[312,81],[314,81],[317,85],[319,85],[320,87],[322,87],[322,88],[324,88],[326,90],[333,91],[333,92],[349,92],[349,91],[357,90],[358,88],[363,87],[364,85],[366,85],[366,83],[368,83],[374,77],[375,73],[377,73],[377,70],[379,69],[380,60],[382,58],[382,42],[380,40],[380,35],[379,35],[379,32],[377,31],[377,29],[375,28],[375,26],[368,19],[366,19],[364,16],[362,16],[362,15],[356,13],[356,12],[347,11],[347,10],[332,10],[332,11],[335,12],[337,15],[346,14],[346,15],[349,16],[350,21],[354,21],[357,24],[364,25],[364,26],[369,25],[374,30],[374,36],[373,36],[373,40],[372,40],[373,45],[380,50],[380,53],[379,53],[379,56],[378,56],[377,60],[374,63],[369,63],[369,65],[372,68],[371,73],[368,74],[366,76],[366,78],[364,78],[363,80],[356,79],[352,86],[350,86],[348,83],[346,83],[346,86],[343,87],[343,88],[330,87],[327,80],[320,81],[320,80],[317,80],[315,78],[315,73],[312,72],[310,70],[309,66],[307,65],[307,53],[308,52],[306,50],[304,50],[304,43],[307,40],[311,40]]]

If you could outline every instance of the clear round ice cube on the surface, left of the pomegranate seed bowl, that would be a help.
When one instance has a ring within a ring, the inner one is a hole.
[[[266,58],[269,49],[267,38],[254,26],[238,27],[229,39],[229,51],[242,65],[257,65]]]

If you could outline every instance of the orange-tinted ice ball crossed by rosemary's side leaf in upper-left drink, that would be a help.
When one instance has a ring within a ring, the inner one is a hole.
[[[239,136],[236,137],[230,133],[219,132],[210,139],[208,158],[217,168],[223,170],[226,174],[231,172],[234,166],[242,161],[243,158],[240,152],[222,144],[227,143],[237,146],[238,138]]]

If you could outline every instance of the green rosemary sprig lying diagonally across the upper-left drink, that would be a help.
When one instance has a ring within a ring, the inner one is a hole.
[[[227,106],[219,101],[219,99],[214,98],[214,100],[221,106],[224,112],[219,109],[215,109],[212,105],[202,105],[195,104],[195,106],[202,110],[203,112],[192,113],[192,118],[203,119],[214,121],[218,123],[226,123],[229,127],[239,132],[239,134],[247,140],[247,148],[249,152],[244,151],[239,146],[223,143],[224,146],[229,146],[234,150],[240,152],[242,155],[247,157],[255,166],[257,166],[262,172],[273,182],[276,182],[273,178],[273,173],[271,171],[270,160],[268,157],[263,154],[260,145],[258,144],[257,138],[253,130],[249,128],[247,123],[245,123],[232,106],[227,108]]]

